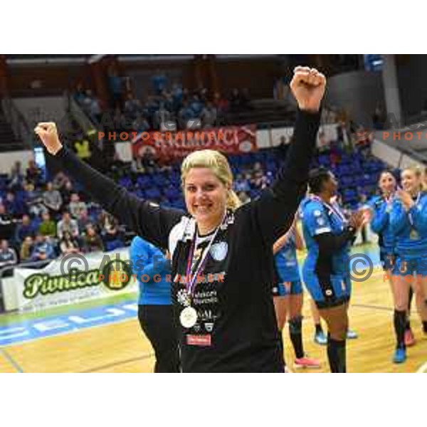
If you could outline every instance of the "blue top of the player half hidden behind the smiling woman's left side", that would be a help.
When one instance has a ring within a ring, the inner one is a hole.
[[[171,265],[162,251],[137,236],[130,245],[130,260],[139,285],[138,304],[172,304]]]

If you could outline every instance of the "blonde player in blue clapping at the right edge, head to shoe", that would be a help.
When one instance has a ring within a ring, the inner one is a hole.
[[[415,293],[423,333],[427,334],[427,192],[424,191],[421,169],[404,169],[401,184],[403,189],[396,191],[389,220],[396,238],[396,263],[392,275],[396,332],[394,363],[406,360],[405,325],[410,288]]]

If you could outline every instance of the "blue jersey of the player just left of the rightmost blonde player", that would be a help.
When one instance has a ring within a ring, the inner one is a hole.
[[[372,209],[371,230],[378,234],[378,245],[381,253],[393,254],[396,246],[396,236],[391,229],[390,212],[392,201],[388,203],[382,196],[374,196],[368,202]]]

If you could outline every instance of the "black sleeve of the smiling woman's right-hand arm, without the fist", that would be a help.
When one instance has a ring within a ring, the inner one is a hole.
[[[285,164],[278,172],[273,186],[253,202],[260,233],[267,247],[288,231],[305,196],[319,123],[320,112],[297,112],[294,138]]]

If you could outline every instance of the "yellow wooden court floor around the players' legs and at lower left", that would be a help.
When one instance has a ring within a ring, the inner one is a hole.
[[[305,304],[305,350],[322,360],[328,371],[325,347],[312,342],[313,327]],[[394,365],[391,297],[388,283],[376,270],[366,283],[355,283],[350,325],[359,339],[348,342],[349,372],[416,372],[427,362],[427,339],[415,310],[412,315],[417,344],[408,349],[406,364]],[[292,362],[288,332],[285,332],[286,360]],[[0,349],[0,372],[150,372],[154,366],[152,348],[139,330],[137,320],[93,327],[79,332],[39,339]],[[307,372],[307,371],[306,371]],[[315,371],[311,371],[315,372]]]

